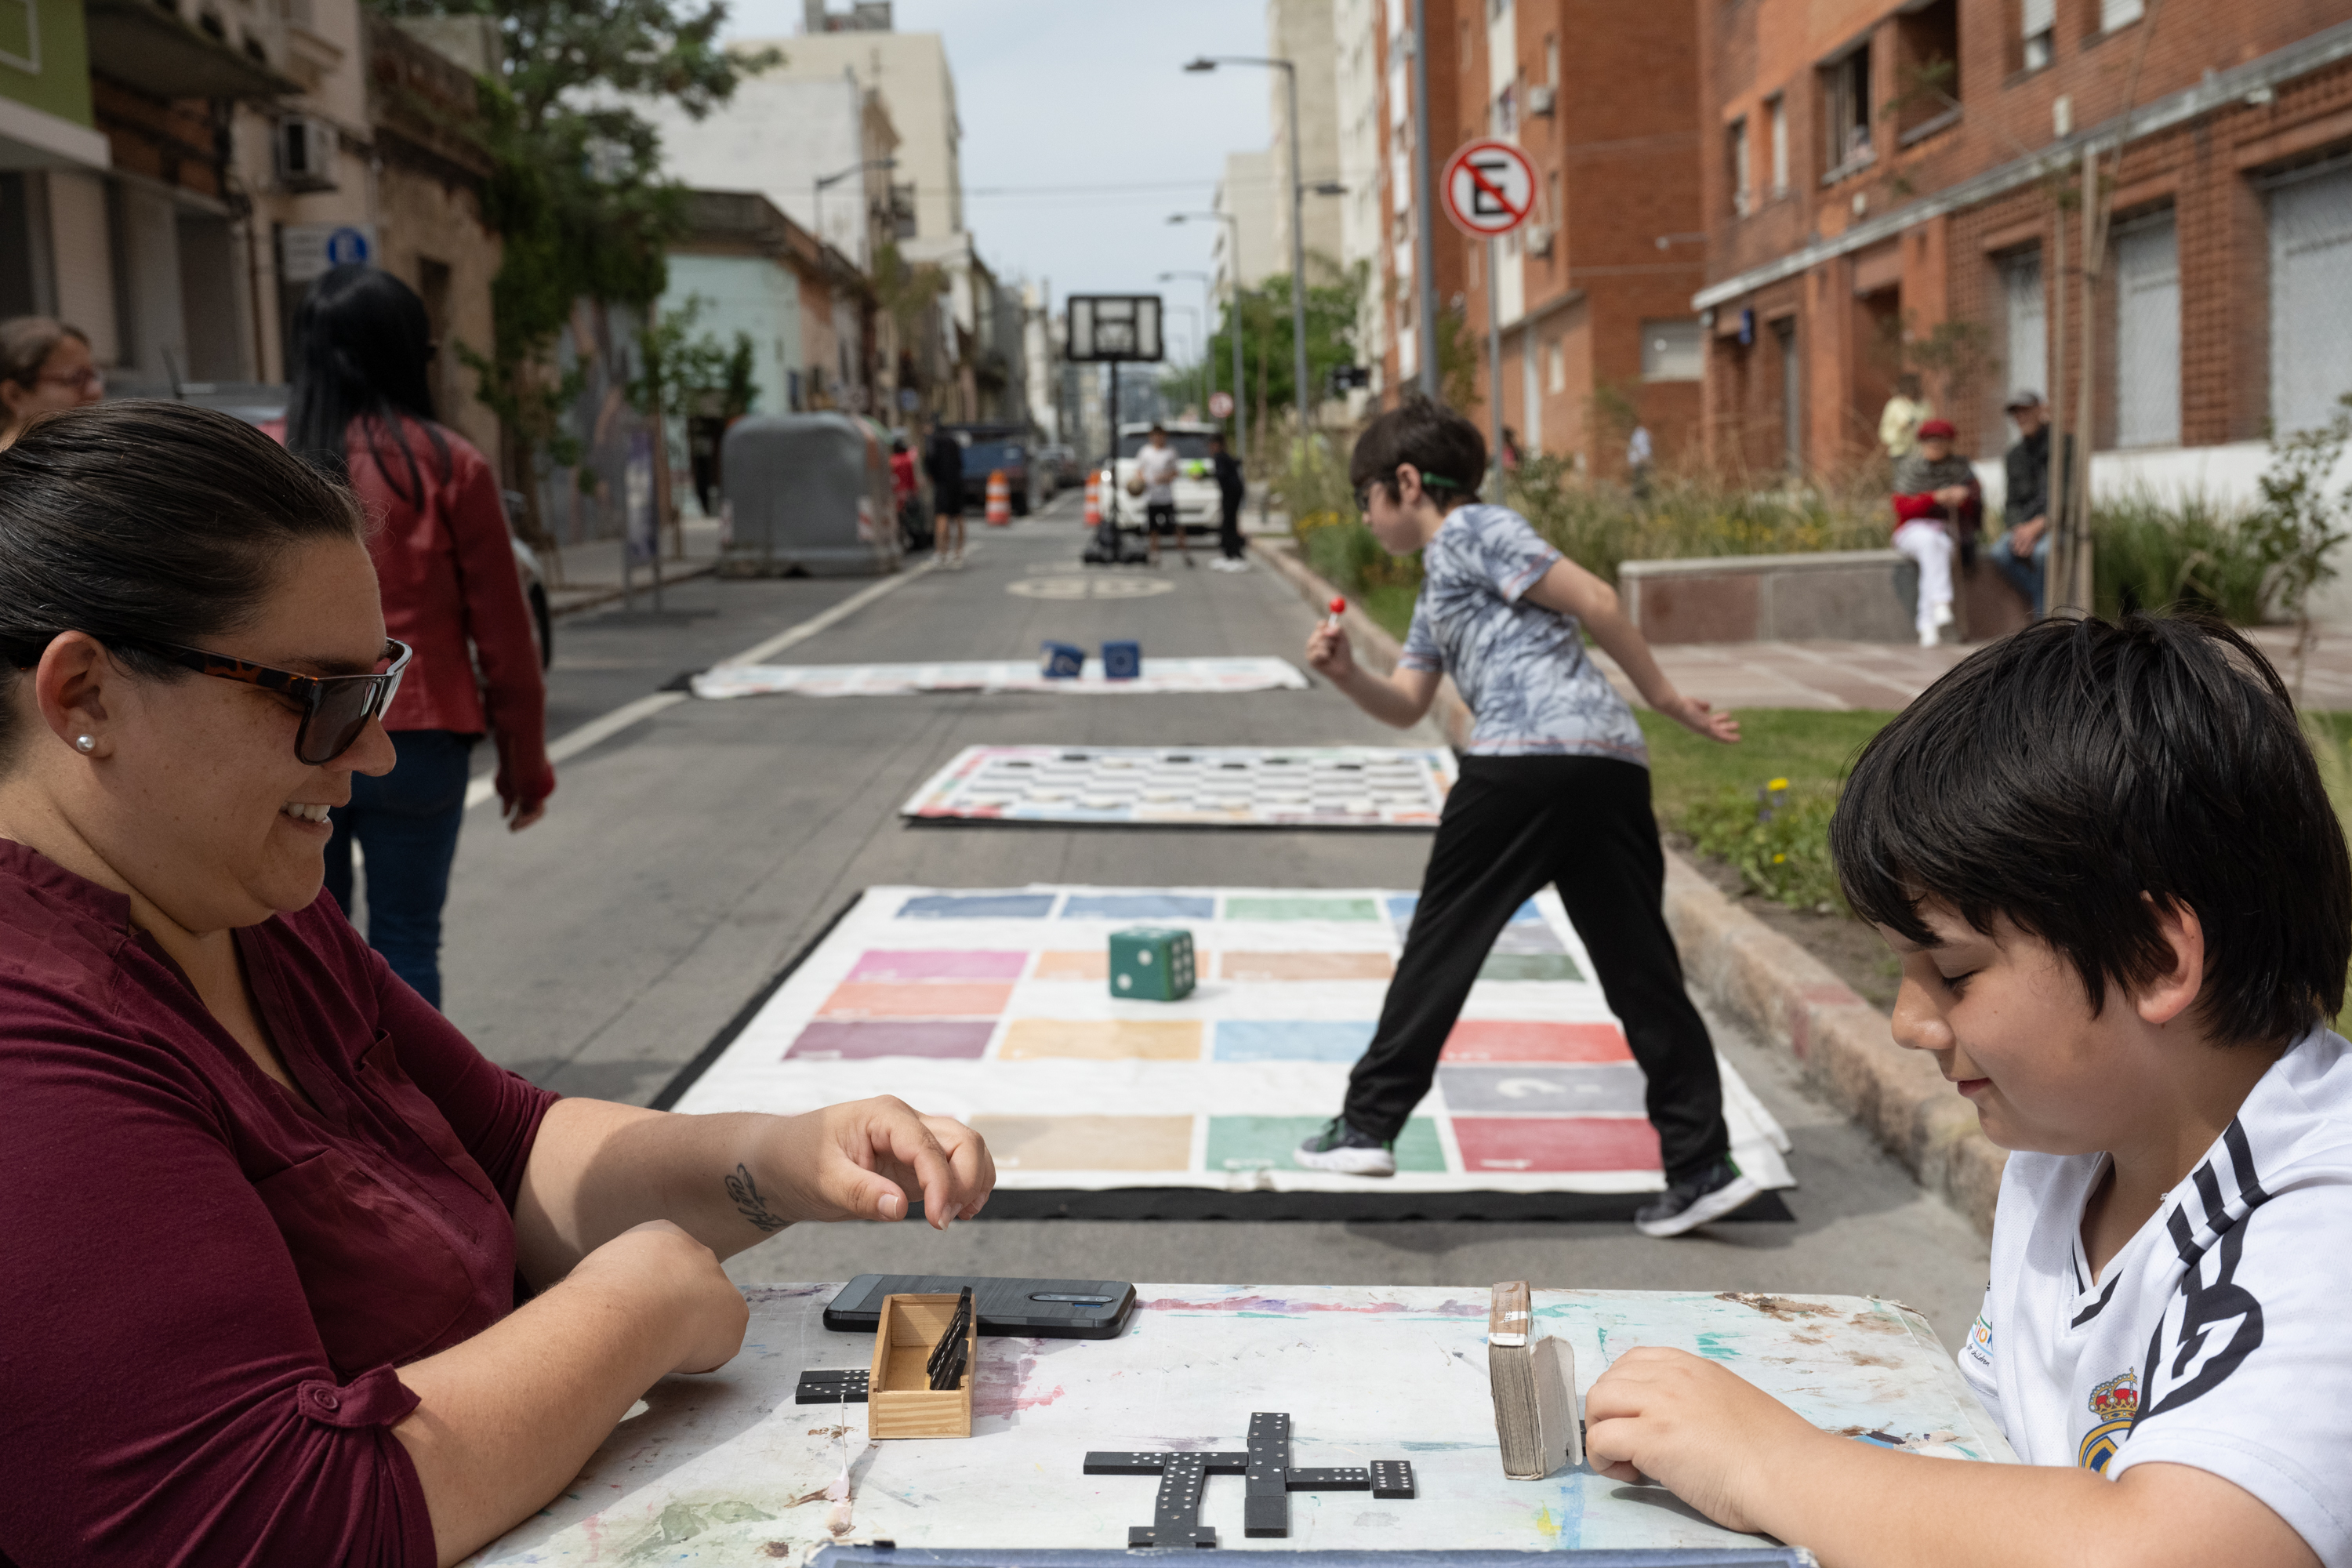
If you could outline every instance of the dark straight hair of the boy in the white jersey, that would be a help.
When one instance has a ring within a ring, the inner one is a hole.
[[[1969,656],[1863,745],[1830,823],[1846,903],[1922,945],[1919,903],[2063,952],[2091,1011],[2204,929],[2197,1018],[2281,1044],[2343,1009],[2352,863],[2270,661],[2197,616],[2044,621]]]

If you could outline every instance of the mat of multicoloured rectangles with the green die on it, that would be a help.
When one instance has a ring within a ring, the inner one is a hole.
[[[1397,1175],[1296,1166],[1371,1041],[1414,903],[1385,889],[873,886],[675,1110],[795,1114],[894,1093],[985,1133],[1007,1190],[1658,1190],[1642,1070],[1550,889],[1479,971]],[[1110,997],[1108,940],[1129,924],[1192,931],[1190,997]],[[1733,1159],[1792,1187],[1788,1135],[1719,1065]]]

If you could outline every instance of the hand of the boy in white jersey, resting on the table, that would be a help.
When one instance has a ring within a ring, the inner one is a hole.
[[[1762,1530],[1752,1505],[1773,1465],[1835,1443],[1785,1403],[1686,1349],[1628,1349],[1585,1394],[1585,1453],[1616,1481],[1665,1486],[1726,1530]]]

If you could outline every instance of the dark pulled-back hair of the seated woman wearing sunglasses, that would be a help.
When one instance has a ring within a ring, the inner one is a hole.
[[[125,400],[31,421],[0,451],[0,771],[21,745],[16,672],[59,632],[200,649],[261,614],[287,550],[362,529],[348,489],[228,414]]]

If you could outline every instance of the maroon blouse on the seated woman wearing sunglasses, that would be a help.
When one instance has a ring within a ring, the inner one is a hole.
[[[0,839],[0,1568],[433,1563],[393,1368],[513,1312],[555,1095],[327,896],[238,952],[315,1112],[127,898]]]

